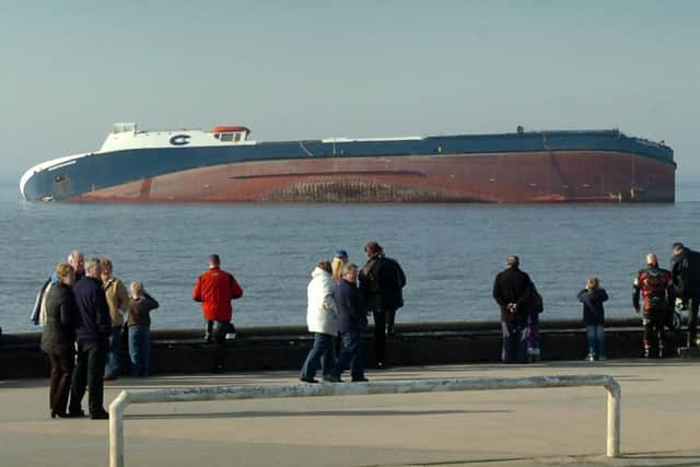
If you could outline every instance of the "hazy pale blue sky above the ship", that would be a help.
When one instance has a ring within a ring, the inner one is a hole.
[[[3,173],[112,124],[258,141],[620,128],[700,179],[700,1],[0,0]]]

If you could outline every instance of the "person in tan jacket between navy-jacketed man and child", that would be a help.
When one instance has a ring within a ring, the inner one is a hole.
[[[109,317],[112,318],[112,339],[107,352],[107,364],[105,365],[105,381],[116,380],[119,376],[121,365],[121,349],[124,330],[124,314],[129,308],[129,293],[119,279],[112,276],[113,264],[109,258],[101,258],[102,265],[102,288],[105,290],[105,297],[109,306]]]

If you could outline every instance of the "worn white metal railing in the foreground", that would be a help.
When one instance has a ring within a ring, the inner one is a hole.
[[[185,389],[122,390],[109,405],[109,466],[124,467],[124,410],[129,404],[195,400],[271,399],[284,397],[358,396],[370,394],[443,393],[453,390],[604,386],[608,392],[608,457],[620,456],[620,385],[608,375],[479,377],[386,381],[377,383],[298,384],[290,386],[210,386]]]

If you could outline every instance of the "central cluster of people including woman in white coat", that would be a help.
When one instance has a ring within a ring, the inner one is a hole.
[[[311,273],[306,324],[314,343],[301,370],[302,382],[318,383],[315,376],[319,367],[326,382],[341,382],[340,375],[348,369],[352,382],[368,381],[362,335],[369,314],[374,318],[376,367],[387,365],[387,337],[394,335],[396,312],[404,306],[406,275],[398,261],[385,256],[378,243],[369,242],[364,253],[368,260],[362,269],[339,249],[332,262],[323,259]],[[340,342],[340,349],[334,340]]]

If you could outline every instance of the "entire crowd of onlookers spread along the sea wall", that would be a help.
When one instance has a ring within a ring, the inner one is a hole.
[[[368,316],[374,319],[374,355],[377,369],[388,361],[387,339],[394,335],[397,311],[404,306],[406,276],[395,259],[388,258],[377,242],[369,242],[362,268],[350,262],[339,249],[332,260],[318,261],[307,287],[306,323],[314,335],[313,346],[302,365],[300,380],[318,383],[341,382],[350,370],[352,382],[366,382],[362,336]],[[233,306],[243,296],[235,277],[221,268],[219,255],[209,256],[209,269],[195,282],[192,299],[201,302],[205,340],[213,346],[214,373],[224,369],[226,341],[235,337]],[[608,294],[597,277],[591,277],[578,293],[583,304],[586,328],[586,359],[606,359],[605,310]],[[493,299],[500,307],[502,350],[506,363],[533,362],[540,358],[539,315],[542,297],[529,276],[520,268],[520,258],[509,256],[506,267],[495,276]],[[700,305],[700,253],[680,243],[673,245],[669,270],[658,266],[654,253],[646,255],[632,287],[632,307],[641,314],[644,328],[643,355],[665,355],[665,326],[670,326],[675,303],[688,311],[687,345],[697,347]],[[50,362],[49,409],[51,418],[85,417],[82,399],[89,394],[92,419],[107,419],[104,381],[116,380],[124,370],[124,338],[128,339],[132,376],[150,374],[150,312],[159,303],[140,281],[129,289],[113,276],[109,258],[85,261],[80,250],[68,262],[56,266],[44,283],[32,319],[44,327],[42,350]],[[676,326],[679,326],[676,323]]]

